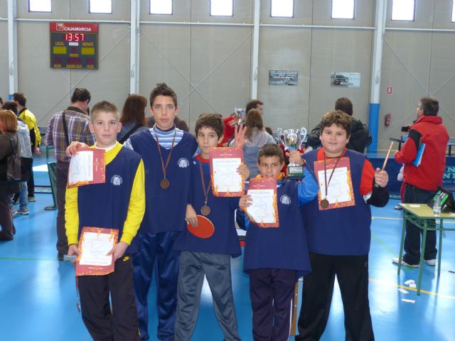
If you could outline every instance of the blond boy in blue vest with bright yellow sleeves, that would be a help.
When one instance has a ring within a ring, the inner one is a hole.
[[[114,272],[77,277],[82,320],[94,340],[140,340],[128,247],[144,216],[144,164],[139,154],[117,142],[122,124],[114,104],[95,104],[90,121],[94,148],[105,150],[106,182],[66,190],[68,254],[80,255],[77,242],[82,227],[118,229],[119,242],[108,253],[115,261]]]

